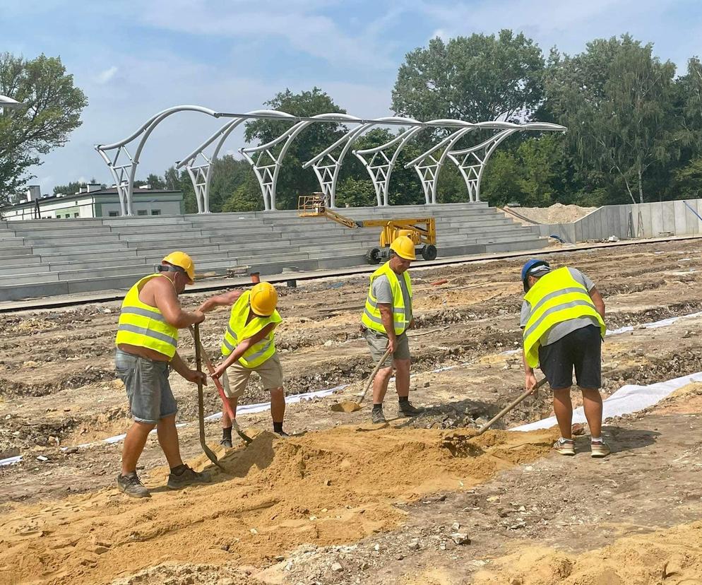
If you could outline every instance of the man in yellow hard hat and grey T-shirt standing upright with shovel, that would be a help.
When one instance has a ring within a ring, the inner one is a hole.
[[[415,260],[415,244],[400,236],[390,245],[391,258],[371,274],[366,306],[361,317],[364,336],[377,363],[388,348],[391,355],[383,362],[373,381],[373,410],[371,420],[385,423],[383,399],[388,391],[395,368],[400,416],[415,416],[422,412],[410,403],[410,344],[407,329],[414,326],[412,317],[412,281],[407,273]]]

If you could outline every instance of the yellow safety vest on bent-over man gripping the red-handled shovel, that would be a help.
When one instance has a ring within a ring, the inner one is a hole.
[[[253,337],[268,324],[278,324],[282,321],[282,317],[280,317],[278,311],[273,311],[270,317],[254,317],[246,324],[250,309],[249,297],[251,297],[251,291],[247,290],[246,293],[237,299],[237,302],[235,302],[232,307],[229,325],[222,339],[222,355],[230,355],[230,353],[234,351],[234,348],[239,345],[239,342]],[[239,358],[239,363],[245,367],[258,367],[269,358],[272,358],[274,354],[275,327],[268,335],[261,339],[261,341],[246,350],[244,355]]]

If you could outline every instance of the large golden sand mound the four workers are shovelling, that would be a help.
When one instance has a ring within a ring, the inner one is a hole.
[[[345,426],[281,440],[262,432],[223,459],[215,483],[148,500],[114,489],[18,506],[0,525],[0,582],[109,582],[155,567],[271,561],[302,543],[333,545],[402,521],[393,504],[470,488],[550,448],[552,433]],[[220,459],[222,451],[219,451]],[[191,462],[206,466],[202,456]]]

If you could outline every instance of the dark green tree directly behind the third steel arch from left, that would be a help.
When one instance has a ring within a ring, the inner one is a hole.
[[[281,110],[282,112],[301,117],[331,112],[346,112],[346,110],[336,105],[329,95],[317,87],[312,88],[311,91],[303,91],[301,93],[292,93],[287,89],[266,102],[266,106],[273,110]],[[263,144],[278,138],[287,128],[290,128],[290,122],[259,119],[254,122],[247,122],[244,136],[247,142],[258,141],[258,143]],[[287,151],[287,155],[285,155],[284,164],[278,175],[278,189],[276,192],[278,208],[297,208],[297,197],[299,195],[319,191],[319,183],[314,171],[303,169],[302,163],[331,145],[344,133],[345,126],[341,124],[311,124],[297,136]],[[280,148],[282,148],[282,145],[276,147],[276,153],[279,152]]]

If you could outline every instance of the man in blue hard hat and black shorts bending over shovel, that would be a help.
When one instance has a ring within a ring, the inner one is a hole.
[[[571,435],[573,370],[583,392],[583,408],[591,435],[591,455],[606,457],[602,439],[602,338],[605,302],[595,284],[576,268],[552,270],[545,260],[532,259],[522,268],[524,302],[520,326],[524,330],[525,385],[536,385],[534,368],[541,367],[553,390],[554,413],[561,437],[554,449],[575,455]]]

